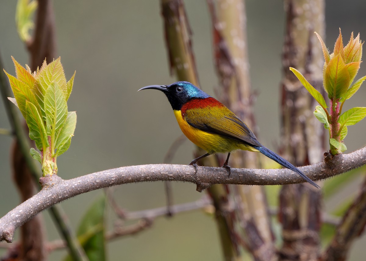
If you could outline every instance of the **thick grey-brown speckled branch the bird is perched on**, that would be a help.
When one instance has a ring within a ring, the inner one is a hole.
[[[313,180],[329,178],[366,164],[366,147],[350,154],[326,157],[320,163],[300,167]],[[194,174],[193,166],[150,164],[127,166],[104,170],[82,177],[63,180],[57,175],[41,178],[42,190],[29,200],[7,213],[0,219],[0,241],[12,242],[14,231],[46,208],[67,198],[92,190],[113,185],[143,181],[183,181],[197,184],[202,191],[212,184],[280,185],[304,182],[288,169],[231,169],[218,167],[198,167]]]

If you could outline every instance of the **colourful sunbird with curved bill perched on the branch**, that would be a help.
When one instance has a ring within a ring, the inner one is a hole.
[[[193,159],[197,173],[197,161],[211,154],[228,153],[222,167],[230,175],[229,157],[232,151],[247,150],[261,152],[268,158],[299,174],[315,188],[320,188],[293,164],[264,147],[249,127],[217,99],[206,94],[190,82],[179,81],[170,85],[149,85],[138,91],[155,89],[164,92],[178,125],[184,135],[195,145],[207,151]]]

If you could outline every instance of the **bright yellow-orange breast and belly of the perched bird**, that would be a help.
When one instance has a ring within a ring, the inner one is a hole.
[[[237,140],[229,139],[218,134],[204,132],[192,127],[183,119],[180,110],[174,110],[174,115],[184,135],[198,147],[210,154],[231,152],[235,150],[257,151],[253,147],[240,143]]]

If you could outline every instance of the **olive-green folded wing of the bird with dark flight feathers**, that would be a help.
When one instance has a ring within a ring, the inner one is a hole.
[[[183,116],[189,125],[201,131],[261,146],[248,126],[227,107],[188,109]]]

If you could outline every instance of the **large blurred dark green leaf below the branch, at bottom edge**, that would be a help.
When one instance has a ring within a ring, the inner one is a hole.
[[[105,196],[98,198],[85,212],[79,228],[78,239],[90,261],[105,261]],[[70,255],[64,261],[72,261]]]

